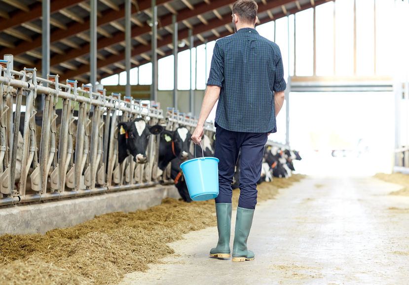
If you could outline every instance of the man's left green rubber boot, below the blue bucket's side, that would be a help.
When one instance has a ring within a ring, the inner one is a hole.
[[[216,217],[219,242],[210,250],[210,256],[219,259],[230,258],[231,203],[217,203]]]

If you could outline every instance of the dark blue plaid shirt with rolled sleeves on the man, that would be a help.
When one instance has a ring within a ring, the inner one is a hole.
[[[216,42],[207,85],[220,86],[216,123],[239,132],[276,132],[274,92],[286,88],[278,45],[243,28]]]

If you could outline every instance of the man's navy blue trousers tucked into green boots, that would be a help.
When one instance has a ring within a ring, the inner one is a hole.
[[[219,196],[216,203],[231,203],[234,169],[240,154],[239,207],[255,209],[267,133],[236,132],[216,125],[215,157],[219,162]]]

